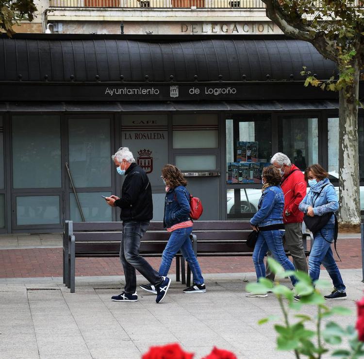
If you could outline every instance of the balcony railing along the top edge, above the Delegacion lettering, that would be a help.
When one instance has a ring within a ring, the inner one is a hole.
[[[317,0],[319,6],[321,0]],[[355,0],[354,6],[363,5]],[[50,7],[264,9],[261,0],[50,0]]]

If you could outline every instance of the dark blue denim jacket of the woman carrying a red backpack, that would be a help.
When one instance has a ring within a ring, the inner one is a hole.
[[[184,186],[170,189],[165,194],[165,217],[164,227],[171,227],[174,224],[190,219],[190,194]]]

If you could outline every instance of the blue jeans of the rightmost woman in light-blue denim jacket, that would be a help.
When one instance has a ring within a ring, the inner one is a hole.
[[[345,285],[331,250],[331,243],[333,243],[333,232],[333,228],[324,227],[320,232],[316,233],[314,237],[314,244],[308,258],[310,277],[313,281],[318,280],[320,277],[320,265],[322,264],[328,271],[332,283],[337,291],[345,293]]]

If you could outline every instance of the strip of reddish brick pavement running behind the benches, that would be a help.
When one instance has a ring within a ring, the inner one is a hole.
[[[339,239],[337,250],[342,259],[341,269],[362,267],[360,238]],[[334,253],[337,258],[336,253]],[[160,258],[148,258],[158,270]],[[253,272],[251,257],[199,257],[203,273],[242,273]],[[62,249],[2,249],[0,250],[0,278],[61,277]],[[175,264],[171,266],[175,273]],[[118,258],[77,258],[76,276],[122,275]]]

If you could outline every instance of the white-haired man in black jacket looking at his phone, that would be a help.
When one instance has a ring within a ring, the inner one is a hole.
[[[140,240],[149,227],[153,218],[153,203],[149,178],[144,170],[135,163],[132,152],[128,147],[120,147],[111,156],[116,165],[116,171],[125,175],[121,188],[121,198],[112,195],[106,197],[110,206],[120,207],[120,219],[123,222],[123,234],[120,243],[120,261],[124,268],[125,287],[118,296],[111,297],[118,302],[136,302],[136,273],[142,274],[157,291],[156,302],[160,303],[165,297],[171,280],[162,277],[139,254]]]

